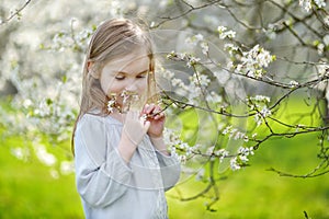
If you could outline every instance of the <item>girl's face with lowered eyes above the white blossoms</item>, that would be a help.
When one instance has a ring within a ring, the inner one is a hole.
[[[123,91],[133,92],[145,96],[150,59],[143,49],[135,50],[127,56],[109,61],[102,69],[100,83],[103,92],[111,96],[118,96]]]

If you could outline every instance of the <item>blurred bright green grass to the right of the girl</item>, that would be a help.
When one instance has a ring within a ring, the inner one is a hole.
[[[251,158],[251,166],[219,182],[216,212],[202,211],[205,199],[180,203],[169,198],[172,218],[297,219],[305,218],[304,211],[309,218],[329,218],[329,174],[293,178],[266,171],[273,166],[296,174],[310,172],[318,162],[316,140],[310,135],[270,141]],[[193,192],[192,186],[189,191]]]

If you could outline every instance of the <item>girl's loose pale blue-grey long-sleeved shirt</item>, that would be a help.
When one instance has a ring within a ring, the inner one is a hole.
[[[146,135],[126,164],[117,151],[122,127],[91,114],[77,124],[76,182],[86,218],[166,219],[164,191],[179,180],[179,160],[156,151]]]

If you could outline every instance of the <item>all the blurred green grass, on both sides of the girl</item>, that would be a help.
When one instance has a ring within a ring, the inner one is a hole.
[[[205,210],[203,198],[180,201],[168,192],[170,218],[329,218],[329,174],[315,178],[281,177],[270,166],[306,173],[317,164],[316,136],[279,139],[264,145],[251,159],[251,166],[220,181],[220,199],[215,212]],[[54,180],[37,160],[23,162],[9,148],[21,137],[0,147],[0,218],[83,218],[73,175]],[[69,146],[69,145],[68,145]],[[183,195],[200,192],[190,184]],[[198,186],[198,188],[197,188]]]

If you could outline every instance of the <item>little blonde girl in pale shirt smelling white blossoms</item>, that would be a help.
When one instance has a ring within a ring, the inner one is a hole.
[[[180,164],[167,151],[156,103],[147,32],[125,19],[104,22],[87,51],[72,138],[86,218],[168,218],[164,191],[178,182]]]

